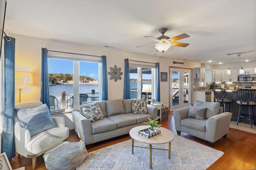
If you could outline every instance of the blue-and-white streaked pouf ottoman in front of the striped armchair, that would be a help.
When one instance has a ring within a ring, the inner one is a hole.
[[[84,142],[68,142],[45,152],[44,162],[48,170],[74,170],[88,156]]]

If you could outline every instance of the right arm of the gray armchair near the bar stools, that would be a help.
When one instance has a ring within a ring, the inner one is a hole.
[[[224,112],[214,115],[206,121],[206,141],[214,143],[229,131],[232,113]]]

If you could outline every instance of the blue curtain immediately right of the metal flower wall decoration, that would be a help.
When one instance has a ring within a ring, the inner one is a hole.
[[[124,60],[124,99],[131,98],[129,59]]]

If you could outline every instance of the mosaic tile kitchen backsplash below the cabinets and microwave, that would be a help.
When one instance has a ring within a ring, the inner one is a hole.
[[[199,87],[199,82],[193,82],[193,91],[210,90],[211,84],[212,84],[212,82],[208,82],[208,83],[206,83],[206,87]],[[222,82],[222,83],[218,83],[217,86],[220,86],[221,84],[224,84],[225,89],[228,89],[228,87],[234,87],[235,90],[238,89],[237,86],[256,86],[256,83],[238,83],[238,82],[233,82],[231,84]]]

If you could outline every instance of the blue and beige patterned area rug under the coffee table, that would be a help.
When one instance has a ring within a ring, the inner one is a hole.
[[[152,149],[152,170],[206,170],[224,154],[177,135],[171,144],[170,159],[168,151]],[[134,146],[148,147],[135,140]],[[168,149],[168,144],[152,145],[152,148]],[[149,150],[134,147],[133,155],[131,150],[130,139],[89,152],[89,156],[76,170],[150,170]]]

